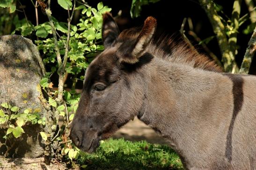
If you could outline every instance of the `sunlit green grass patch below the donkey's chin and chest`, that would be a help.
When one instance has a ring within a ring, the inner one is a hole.
[[[183,170],[179,156],[166,145],[109,139],[96,153],[82,153],[77,162],[86,170]]]

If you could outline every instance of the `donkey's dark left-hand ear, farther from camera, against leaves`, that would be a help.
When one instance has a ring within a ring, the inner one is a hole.
[[[110,47],[111,44],[117,39],[119,33],[117,23],[113,19],[112,15],[108,12],[103,14],[102,40],[104,47]]]

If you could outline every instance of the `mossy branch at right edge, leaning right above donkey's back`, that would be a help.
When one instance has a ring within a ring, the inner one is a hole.
[[[256,27],[253,31],[250,41],[248,42],[248,47],[243,57],[241,68],[239,70],[240,74],[248,74],[249,68],[256,51]]]

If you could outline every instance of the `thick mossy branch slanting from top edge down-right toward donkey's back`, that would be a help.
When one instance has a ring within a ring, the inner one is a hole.
[[[225,33],[225,27],[220,20],[217,11],[214,9],[214,4],[212,0],[199,0],[201,6],[204,8],[211,24],[213,32],[216,34],[216,38],[219,44],[219,49],[222,55],[222,61],[224,63],[224,70],[226,72],[231,72],[234,65],[234,55],[229,53],[229,44],[227,41],[227,36]]]

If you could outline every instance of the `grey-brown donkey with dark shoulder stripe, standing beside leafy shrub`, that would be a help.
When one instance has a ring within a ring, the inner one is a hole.
[[[119,32],[103,14],[105,50],[86,70],[70,138],[89,153],[137,116],[168,140],[190,170],[256,169],[256,77],[154,41],[156,20]]]

